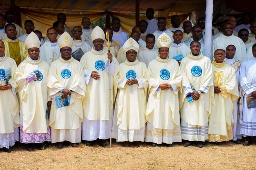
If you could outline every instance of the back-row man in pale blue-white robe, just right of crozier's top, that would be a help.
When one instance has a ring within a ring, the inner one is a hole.
[[[113,37],[112,40],[114,40],[117,45],[120,47],[123,46],[124,42],[129,39],[129,36],[126,32],[124,32],[121,27],[121,22],[119,18],[113,18],[111,22],[111,27],[113,29]]]

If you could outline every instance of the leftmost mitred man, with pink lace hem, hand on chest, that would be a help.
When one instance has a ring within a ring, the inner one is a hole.
[[[46,116],[49,65],[39,56],[40,41],[31,32],[25,40],[29,57],[16,70],[15,80],[20,96],[20,142],[26,150],[33,150],[33,143],[43,149],[43,142],[50,141],[50,128]]]

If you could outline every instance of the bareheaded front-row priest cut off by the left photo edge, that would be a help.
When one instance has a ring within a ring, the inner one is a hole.
[[[15,142],[20,141],[20,117],[16,95],[15,61],[4,53],[5,44],[0,40],[0,149],[11,152]]]

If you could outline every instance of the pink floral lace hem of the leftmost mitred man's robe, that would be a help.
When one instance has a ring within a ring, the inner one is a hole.
[[[47,133],[26,133],[23,132],[23,125],[20,125],[20,142],[21,143],[42,143],[51,141],[50,127],[47,128]]]

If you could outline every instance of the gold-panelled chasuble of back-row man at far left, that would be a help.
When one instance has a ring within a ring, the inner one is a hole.
[[[11,40],[9,38],[2,41],[5,44],[5,55],[14,59],[17,66],[27,58],[28,49],[25,42],[20,41],[19,39]]]

